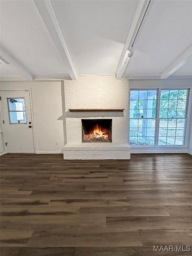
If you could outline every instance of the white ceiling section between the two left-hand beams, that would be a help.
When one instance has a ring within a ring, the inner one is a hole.
[[[32,75],[67,74],[67,60],[62,62],[34,2],[8,0],[0,4],[1,47]]]

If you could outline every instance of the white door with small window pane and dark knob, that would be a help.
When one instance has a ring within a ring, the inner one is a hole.
[[[29,91],[1,91],[7,153],[34,153]]]

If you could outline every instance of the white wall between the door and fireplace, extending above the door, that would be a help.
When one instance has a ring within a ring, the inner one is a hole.
[[[59,153],[64,145],[61,82],[1,82],[1,90],[18,88],[31,88],[33,111],[38,110],[39,113],[34,115],[33,123],[36,152],[49,153],[51,151]],[[59,141],[59,145],[56,145],[55,141]]]

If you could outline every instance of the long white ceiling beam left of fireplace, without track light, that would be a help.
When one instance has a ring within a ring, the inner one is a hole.
[[[50,0],[34,0],[34,3],[45,23],[45,26],[63,60],[66,63],[66,59],[68,60],[68,72],[72,80],[77,80],[77,73],[75,71],[71,56],[67,49],[67,45],[61,33],[61,29],[59,27],[57,18],[55,16],[53,7],[51,5]]]

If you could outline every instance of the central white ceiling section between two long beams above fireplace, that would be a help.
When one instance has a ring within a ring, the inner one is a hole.
[[[77,74],[114,74],[139,1],[51,1]]]

